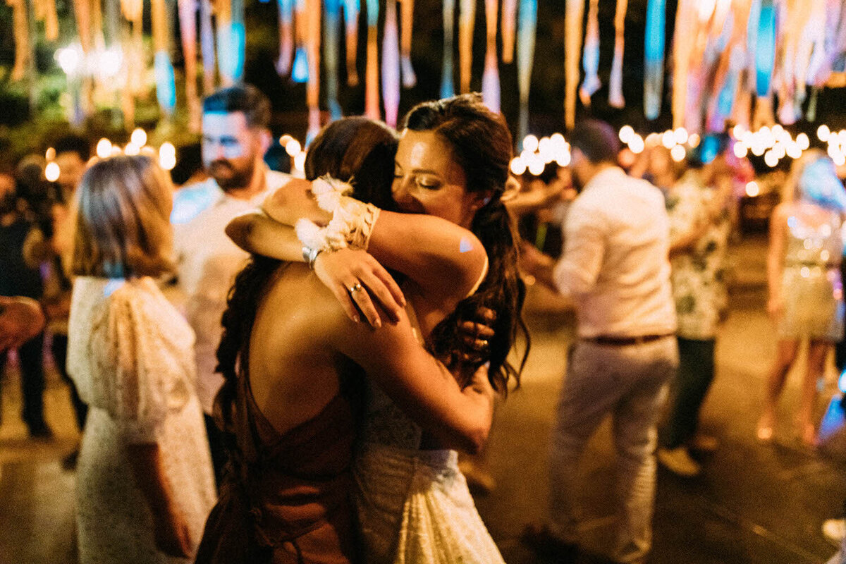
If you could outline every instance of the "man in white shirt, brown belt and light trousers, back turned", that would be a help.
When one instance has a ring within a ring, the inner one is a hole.
[[[563,254],[555,262],[528,248],[521,265],[571,298],[579,323],[552,435],[549,517],[527,528],[525,540],[574,560],[579,460],[611,414],[618,521],[608,556],[642,562],[651,549],[656,424],[678,366],[667,211],[659,189],[617,166],[618,139],[607,123],[581,123],[570,145],[580,194],[564,222]]]

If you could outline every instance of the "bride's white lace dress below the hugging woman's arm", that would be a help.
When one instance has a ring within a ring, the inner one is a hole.
[[[459,471],[458,453],[420,450],[420,427],[367,382],[364,432],[354,463],[365,561],[503,563]]]

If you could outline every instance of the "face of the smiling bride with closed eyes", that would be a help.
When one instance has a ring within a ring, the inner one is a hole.
[[[467,191],[464,171],[434,131],[405,129],[394,165],[393,200],[401,211],[438,216],[470,228],[481,194]]]

